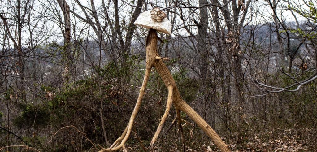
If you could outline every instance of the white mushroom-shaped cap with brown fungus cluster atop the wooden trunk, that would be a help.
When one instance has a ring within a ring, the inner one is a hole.
[[[171,34],[171,22],[166,18],[165,12],[157,7],[141,13],[134,24]]]

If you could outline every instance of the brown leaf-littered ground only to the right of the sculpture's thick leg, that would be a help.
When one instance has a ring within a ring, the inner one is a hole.
[[[213,144],[210,147],[212,147],[212,151],[217,151]],[[315,128],[305,128],[265,131],[254,134],[252,137],[245,137],[244,142],[240,144],[231,144],[230,149],[232,151],[317,152],[317,130]]]

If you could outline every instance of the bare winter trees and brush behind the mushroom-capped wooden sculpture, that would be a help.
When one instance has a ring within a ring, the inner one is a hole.
[[[114,142],[145,72],[147,29],[133,22],[153,7],[172,24],[171,35],[159,33],[159,53],[171,58],[165,63],[184,101],[226,143],[243,146],[268,130],[316,129],[316,3],[0,0],[0,148],[87,151],[96,150],[87,138],[103,147]],[[153,71],[134,125],[145,146],[166,100]],[[159,151],[182,149],[177,125],[168,129],[175,116],[172,109]],[[195,124],[184,132],[186,147],[210,144]],[[136,135],[127,144],[141,151]],[[307,135],[304,144],[316,138]]]

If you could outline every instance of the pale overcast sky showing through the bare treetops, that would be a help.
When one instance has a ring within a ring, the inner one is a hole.
[[[82,5],[84,6],[87,6],[88,8],[91,8],[90,6],[90,0],[79,0],[81,2]],[[314,0],[316,1],[316,0]],[[41,3],[44,3],[44,4],[47,4],[48,1],[46,0],[39,0],[35,2],[35,10],[40,10],[41,9]],[[84,14],[82,13],[80,7],[78,6],[78,4],[74,4],[75,2],[72,0],[68,0],[67,1],[68,4],[70,5],[70,9],[73,10],[79,14],[80,16],[84,17]],[[101,5],[101,0],[95,0],[95,6],[96,6],[96,9],[98,10],[98,12],[102,13],[102,5]],[[107,3],[107,1],[106,1]],[[132,6],[128,5],[127,3],[131,3],[130,1],[129,2],[123,2],[123,1],[120,1],[119,0],[119,13],[120,13],[120,21],[121,21],[121,24],[128,24],[129,21],[130,21],[130,18],[131,18],[131,14],[133,12],[132,10]],[[154,4],[157,4],[161,7],[167,7],[169,6],[168,4],[166,4],[165,2],[162,3],[161,1],[152,1],[152,3]],[[132,5],[135,5],[136,4],[136,0],[134,2],[134,4]],[[285,2],[285,1],[279,1],[279,4],[282,4],[284,5],[285,7],[284,8],[281,8],[281,7],[278,7],[278,10],[277,10],[277,13],[278,13],[278,16],[284,18],[286,21],[294,21],[294,16],[291,14],[291,11],[288,10],[287,6],[288,6],[288,3]],[[290,4],[294,4],[294,5],[297,5],[297,6],[300,6],[301,8],[300,9],[305,9],[305,10],[308,10],[309,8],[307,7],[306,4],[304,4],[304,2],[302,0],[290,0]],[[194,5],[194,6],[198,6],[198,1],[197,0],[193,0],[191,5]],[[231,5],[231,3],[229,4],[229,6]],[[113,10],[113,3],[111,1],[110,3],[110,14],[109,16],[113,18],[114,20],[114,10]],[[148,5],[148,8],[151,9],[152,6],[151,5]],[[5,6],[1,6],[1,9],[3,12],[6,11],[6,8]],[[59,9],[60,11],[60,8],[59,6],[57,5],[57,9]],[[250,10],[254,10],[254,11],[250,11]],[[257,11],[257,13],[255,13],[255,11]],[[49,10],[45,11],[47,14],[47,16],[49,16],[49,14],[51,14],[51,12]],[[143,12],[143,10],[142,10]],[[244,23],[250,23],[250,24],[260,24],[260,23],[265,23],[265,22],[270,22],[272,19],[272,10],[268,4],[268,2],[265,2],[263,0],[252,0],[252,2],[250,3],[250,7],[249,7],[249,10],[248,10],[248,15],[247,15],[247,19]],[[34,11],[34,13],[36,13],[36,11]],[[185,16],[188,16],[189,14],[193,15],[193,17],[195,17],[196,20],[199,20],[199,10],[196,10],[194,13],[190,12],[189,9],[183,9],[183,13],[185,14]],[[62,13],[61,13],[62,14]],[[241,13],[242,14],[242,13]],[[304,17],[301,17],[299,14],[297,14],[296,12],[294,12],[295,16],[298,17],[298,20],[299,21],[304,21],[305,18]],[[76,32],[79,32],[79,31],[82,31],[82,36],[83,37],[96,37],[95,34],[94,34],[94,31],[93,29],[87,24],[87,23],[84,23],[84,22],[80,22],[80,20],[78,18],[74,18],[73,14],[71,13],[71,22],[72,24],[74,23],[74,21],[76,21]],[[210,16],[211,17],[211,16]],[[251,18],[252,17],[252,18]],[[171,15],[169,17],[169,19],[171,20]],[[104,21],[102,19],[100,19],[101,23],[103,23]],[[53,23],[52,21],[49,21],[48,18],[44,18],[42,21],[40,21],[41,24],[45,24],[47,26],[48,29],[50,29],[50,31],[48,32],[48,34],[51,34],[53,33],[53,36],[50,37],[47,41],[48,42],[51,42],[51,41],[57,41],[57,42],[62,42],[63,41],[63,36],[61,34],[61,31],[60,31],[60,28],[59,26],[56,24],[56,23]],[[185,23],[186,25],[189,25],[189,24],[192,24],[190,22],[186,22]],[[213,22],[209,22],[210,26],[213,26]],[[223,22],[223,26],[224,26],[224,22]],[[176,17],[176,23],[175,23],[175,26],[174,28],[179,28],[179,27],[182,27],[184,26],[183,22],[180,20],[180,18],[177,16]],[[193,33],[196,33],[196,27],[189,27],[190,30],[193,32]],[[140,28],[138,29],[140,30]],[[142,30],[142,29],[141,29]],[[71,29],[71,31],[73,32],[73,29]],[[144,31],[144,30],[143,30]],[[3,32],[3,31],[1,31]],[[172,33],[172,36],[175,36],[175,33],[176,31],[174,31]],[[78,33],[77,33],[78,34]],[[124,33],[124,30],[123,30],[123,34]],[[183,28],[183,29],[179,29],[178,30],[178,34],[180,35],[183,35],[183,36],[188,36],[188,33],[187,31]],[[29,34],[27,32],[24,32],[23,35],[25,35],[24,37],[28,37]],[[86,35],[86,36],[85,36]]]

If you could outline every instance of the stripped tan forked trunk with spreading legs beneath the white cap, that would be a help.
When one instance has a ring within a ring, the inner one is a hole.
[[[156,71],[159,73],[160,77],[163,79],[163,82],[165,83],[165,86],[168,88],[168,100],[166,103],[166,110],[162,117],[161,122],[159,123],[159,127],[153,136],[153,139],[151,141],[151,146],[155,143],[157,140],[159,133],[164,125],[164,122],[167,118],[168,112],[171,108],[171,103],[174,104],[176,110],[179,112],[179,110],[182,110],[184,113],[186,113],[191,119],[197,123],[197,125],[205,131],[207,135],[211,138],[211,140],[217,145],[221,151],[228,152],[230,149],[228,148],[228,145],[226,145],[221,138],[217,135],[217,133],[208,125],[207,122],[204,121],[204,119],[197,114],[197,112],[192,109],[184,100],[181,98],[178,88],[176,87],[175,81],[173,77],[171,76],[171,73],[169,69],[166,67],[166,65],[163,62],[163,58],[159,57],[159,54],[157,53],[157,32],[156,30],[150,29],[149,34],[146,39],[146,71],[144,80],[140,89],[139,97],[137,100],[137,103],[133,109],[132,115],[130,117],[129,123],[122,133],[122,135],[110,146],[108,149],[102,149],[100,152],[103,151],[114,151],[118,150],[124,147],[124,144],[126,140],[129,138],[129,135],[131,133],[134,119],[137,115],[137,112],[140,108],[142,98],[144,96],[144,92],[146,89],[146,84],[148,82],[151,69],[154,67]],[[179,115],[179,114],[178,114]],[[181,119],[178,117],[178,119]],[[180,120],[182,121],[182,120]],[[180,125],[181,126],[181,125]]]

